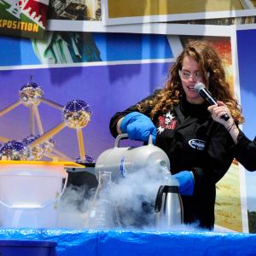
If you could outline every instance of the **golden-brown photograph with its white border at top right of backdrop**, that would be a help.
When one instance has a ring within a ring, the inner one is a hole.
[[[247,16],[256,14],[255,6],[250,0],[102,0],[102,21],[114,25]]]

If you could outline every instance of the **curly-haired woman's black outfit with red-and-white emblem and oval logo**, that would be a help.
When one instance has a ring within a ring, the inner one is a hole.
[[[117,136],[118,120],[132,111],[138,111],[136,105],[113,116],[110,121],[113,137]],[[144,114],[149,116],[150,112],[148,108]],[[155,115],[153,122],[158,131],[156,146],[168,155],[172,174],[189,170],[195,176],[194,195],[182,196],[184,222],[199,221],[201,227],[212,229],[215,183],[228,171],[233,160],[230,148],[234,143],[230,134],[211,118],[206,104],[189,104],[185,99],[170,112]]]

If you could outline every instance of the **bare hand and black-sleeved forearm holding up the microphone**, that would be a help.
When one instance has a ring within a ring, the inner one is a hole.
[[[253,141],[249,140],[244,133],[237,127],[234,119],[230,114],[229,108],[224,102],[218,102],[218,106],[210,106],[208,110],[212,113],[212,119],[224,125],[230,136],[233,138],[235,147],[232,149],[236,160],[248,171],[256,171],[256,137]],[[220,117],[227,113],[230,116],[228,121],[224,121]]]

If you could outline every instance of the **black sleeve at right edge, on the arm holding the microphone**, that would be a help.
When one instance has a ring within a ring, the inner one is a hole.
[[[242,131],[239,131],[234,156],[248,171],[256,171],[256,137],[249,140]]]

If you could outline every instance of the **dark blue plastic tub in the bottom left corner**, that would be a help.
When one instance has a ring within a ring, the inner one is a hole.
[[[55,256],[55,241],[0,240],[0,256]]]

